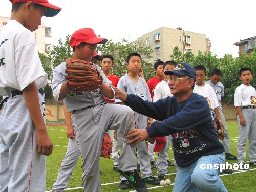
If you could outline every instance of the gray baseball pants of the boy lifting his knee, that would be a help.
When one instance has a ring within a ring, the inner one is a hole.
[[[121,147],[118,159],[119,169],[131,171],[137,168],[136,146],[126,144],[124,136],[135,127],[134,112],[125,105],[99,104],[73,112],[72,120],[76,130],[76,140],[82,156],[82,186],[84,191],[99,192],[99,159],[105,132],[117,130],[117,140]]]

